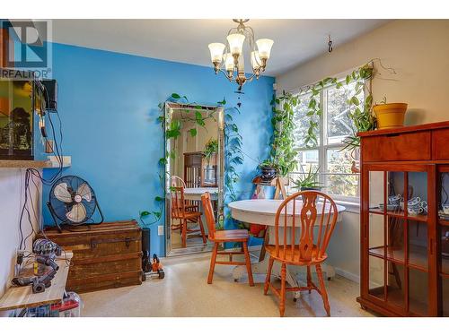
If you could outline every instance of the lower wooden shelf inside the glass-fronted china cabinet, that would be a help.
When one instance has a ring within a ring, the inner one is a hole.
[[[383,246],[372,247],[368,252],[377,258],[384,258]],[[392,263],[405,265],[405,254],[401,248],[392,248],[387,246],[387,260]],[[449,266],[449,265],[448,265]],[[427,248],[423,246],[409,245],[409,268],[418,271],[427,271]]]

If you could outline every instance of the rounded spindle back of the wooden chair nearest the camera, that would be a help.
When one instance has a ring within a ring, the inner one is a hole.
[[[289,196],[277,209],[276,257],[287,263],[321,261],[337,217],[337,205],[327,194],[305,191]],[[295,228],[301,228],[298,241]]]

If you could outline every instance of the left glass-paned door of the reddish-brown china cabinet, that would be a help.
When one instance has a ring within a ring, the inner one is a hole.
[[[368,293],[427,315],[427,171],[396,169],[369,172]]]

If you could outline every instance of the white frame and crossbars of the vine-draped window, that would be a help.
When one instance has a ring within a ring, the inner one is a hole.
[[[338,82],[344,82],[345,81],[345,77],[339,78]],[[345,144],[342,142],[339,143],[325,143],[327,142],[327,127],[324,127],[324,125],[327,125],[327,116],[328,116],[328,111],[327,111],[327,95],[323,94],[324,90],[328,90],[330,87],[335,86],[335,84],[330,84],[325,86],[321,91],[320,91],[320,106],[323,107],[322,108],[322,114],[320,116],[320,144],[316,147],[310,147],[310,148],[297,148],[297,151],[318,151],[318,162],[320,165],[320,173],[319,173],[319,182],[321,183],[321,185],[324,185],[326,182],[326,175],[336,175],[336,174],[331,174],[331,173],[327,173],[328,171],[328,161],[327,161],[327,151],[331,150],[331,149],[338,149],[341,147],[344,147]],[[306,94],[306,92],[303,92],[302,94]],[[325,173],[323,173],[325,172]],[[301,172],[292,172],[292,173],[301,173]],[[346,173],[348,175],[358,175],[360,177],[359,174],[349,174]],[[358,190],[360,192],[360,178],[358,179]],[[360,194],[358,196],[345,196],[345,195],[341,195],[341,194],[329,194],[334,200],[335,202],[341,204],[341,205],[345,205],[347,206],[347,208],[350,208],[351,212],[359,212],[360,211]]]

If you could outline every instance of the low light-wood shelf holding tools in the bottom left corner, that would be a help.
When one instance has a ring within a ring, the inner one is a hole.
[[[6,289],[4,296],[0,298],[0,311],[60,302],[64,296],[64,291],[66,290],[66,280],[69,269],[68,264],[70,263],[72,256],[73,254],[71,252],[67,252],[57,258],[59,270],[57,270],[55,278],[51,280],[51,286],[48,289],[45,289],[45,292],[34,294],[31,286],[12,286],[9,289]],[[24,268],[21,275],[30,276],[31,274],[32,263]]]

